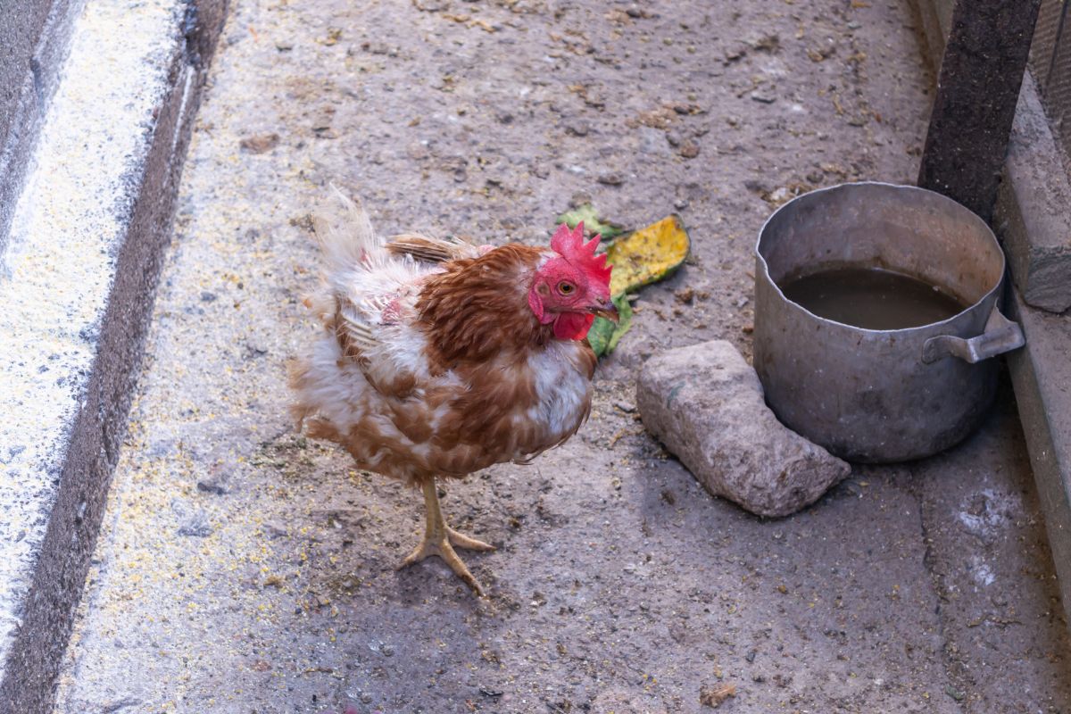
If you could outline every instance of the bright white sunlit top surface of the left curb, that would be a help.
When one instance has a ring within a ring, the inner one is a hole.
[[[124,51],[108,58],[117,69],[140,73],[145,87],[134,94],[137,104],[120,103],[119,97],[129,100],[124,90],[102,83],[92,66],[64,83],[35,157],[35,185],[20,197],[12,243],[0,263],[0,305],[7,308],[0,317],[6,386],[0,396],[6,417],[0,425],[5,491],[0,506],[0,602],[7,605],[0,616],[0,652],[5,652],[16,624],[11,608],[24,596],[20,590],[28,583],[52,505],[51,498],[37,496],[58,486],[64,441],[96,354],[116,257],[125,238],[123,207],[100,206],[99,197],[122,196],[127,172],[136,170],[147,149],[140,134],[168,64],[166,57],[155,65],[145,61],[159,42],[157,26],[167,27],[168,7],[162,11],[144,13],[140,24],[132,21],[136,27],[125,28],[130,42]],[[96,51],[94,22],[116,19],[106,5],[87,14],[72,61]],[[77,128],[71,124],[73,117],[94,110],[100,115],[90,115],[90,121]],[[95,133],[89,133],[93,128]],[[111,152],[114,142],[122,143]],[[79,152],[81,147],[87,149]],[[96,182],[104,183],[100,193],[76,189]],[[47,187],[41,185],[45,183]]]

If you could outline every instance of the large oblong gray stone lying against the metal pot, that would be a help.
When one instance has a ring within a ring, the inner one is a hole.
[[[755,370],[724,340],[652,356],[636,404],[644,426],[707,490],[760,516],[795,513],[851,471],[778,421]]]

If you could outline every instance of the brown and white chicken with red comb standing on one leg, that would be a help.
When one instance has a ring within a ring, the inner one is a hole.
[[[314,224],[327,273],[305,304],[325,332],[291,365],[295,417],[359,468],[423,490],[424,537],[398,567],[438,556],[483,595],[455,548],[494,547],[447,525],[436,480],[527,462],[576,432],[591,406],[588,328],[617,319],[610,267],[583,225],[560,226],[549,249],[383,241],[335,193],[341,217]]]

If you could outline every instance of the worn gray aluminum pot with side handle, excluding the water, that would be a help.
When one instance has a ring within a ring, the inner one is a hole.
[[[851,183],[782,206],[756,246],[754,364],[779,419],[854,461],[903,461],[975,429],[996,390],[993,358],[1022,347],[999,312],[1005,256],[989,226],[940,194]],[[906,273],[969,305],[905,330],[865,330],[789,301],[786,277],[823,265]]]

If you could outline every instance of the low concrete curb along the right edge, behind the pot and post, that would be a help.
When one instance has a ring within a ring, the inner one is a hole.
[[[940,63],[951,3],[916,0],[924,47]],[[1020,92],[994,228],[1008,253],[1014,286],[1006,301],[1026,347],[1009,353],[1064,609],[1071,622],[1071,183],[1027,73]],[[1045,308],[1045,309],[1039,309]]]

